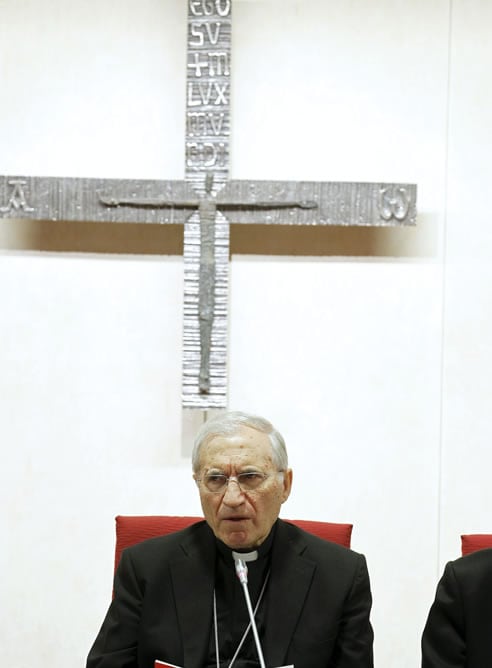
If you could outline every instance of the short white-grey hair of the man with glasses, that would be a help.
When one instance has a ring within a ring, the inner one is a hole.
[[[203,445],[215,436],[229,436],[235,434],[240,427],[250,427],[266,434],[272,446],[272,459],[279,471],[285,471],[289,466],[287,449],[282,434],[275,429],[271,422],[259,415],[251,415],[241,411],[226,411],[219,413],[207,422],[204,422],[195,436],[191,466],[193,473],[198,473],[200,467],[200,452]]]

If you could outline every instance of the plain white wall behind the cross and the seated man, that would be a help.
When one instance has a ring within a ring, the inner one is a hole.
[[[183,0],[3,0],[0,13],[0,173],[183,177]],[[380,668],[418,665],[460,533],[492,531],[491,13],[233,5],[232,177],[419,188],[415,229],[231,262],[230,406],[286,436],[284,517],[354,523]],[[165,249],[156,235],[0,221],[6,665],[83,665],[116,514],[200,512],[181,445],[181,256],[132,254],[142,238]]]

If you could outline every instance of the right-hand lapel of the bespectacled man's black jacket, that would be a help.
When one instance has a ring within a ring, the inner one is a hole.
[[[268,612],[265,624],[265,661],[281,666],[311,586],[316,564],[302,556],[304,541],[290,527],[277,523],[272,551]]]

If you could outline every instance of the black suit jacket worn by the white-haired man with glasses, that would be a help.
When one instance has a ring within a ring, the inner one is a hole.
[[[155,659],[203,668],[215,558],[205,522],[124,550],[87,668],[154,668]],[[372,668],[370,608],[362,555],[277,521],[261,637],[267,668]]]

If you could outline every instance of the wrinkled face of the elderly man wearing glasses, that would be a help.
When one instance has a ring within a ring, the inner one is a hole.
[[[258,489],[250,491],[242,491],[235,480],[219,493],[199,483],[205,519],[217,538],[236,550],[253,549],[268,536],[280,506],[290,494],[292,471],[277,475],[268,436],[250,427],[240,427],[233,435],[215,436],[202,447],[197,479],[252,471],[268,477]]]

